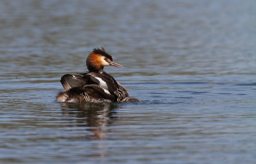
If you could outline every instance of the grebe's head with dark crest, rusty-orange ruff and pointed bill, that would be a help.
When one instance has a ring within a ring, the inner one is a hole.
[[[112,56],[107,53],[103,47],[101,47],[101,49],[98,47],[97,49],[93,49],[92,53],[90,53],[86,59],[86,65],[89,71],[97,72],[99,72],[101,69],[103,70],[104,66],[116,66],[124,68],[123,66],[115,63]]]

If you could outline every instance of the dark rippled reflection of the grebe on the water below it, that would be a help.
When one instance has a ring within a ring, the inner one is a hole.
[[[119,105],[113,103],[62,103],[61,107],[62,114],[65,117],[68,116],[65,120],[70,121],[72,127],[95,127],[88,129],[94,133],[91,137],[95,140],[103,140],[104,135],[110,132],[103,127],[110,126],[117,119],[116,116],[113,116],[116,113],[114,109],[120,108]]]

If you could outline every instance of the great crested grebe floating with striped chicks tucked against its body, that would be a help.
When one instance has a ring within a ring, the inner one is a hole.
[[[111,75],[106,73],[104,66],[116,66],[112,56],[103,47],[93,49],[86,59],[88,72],[65,74],[60,82],[66,91],[59,92],[57,102],[72,103],[103,103],[103,102],[140,102],[130,97],[128,91],[119,84]]]

